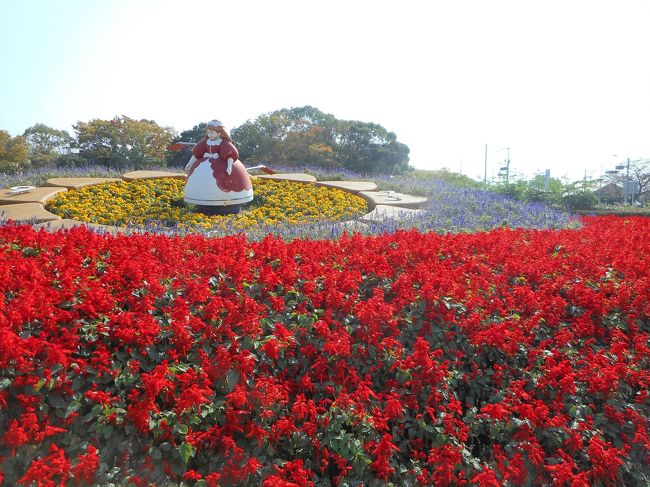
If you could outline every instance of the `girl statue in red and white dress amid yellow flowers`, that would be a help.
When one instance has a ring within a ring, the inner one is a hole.
[[[208,122],[206,132],[185,166],[183,199],[209,214],[237,213],[242,203],[253,200],[248,171],[221,122]]]

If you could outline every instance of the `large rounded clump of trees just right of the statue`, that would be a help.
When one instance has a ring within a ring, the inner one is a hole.
[[[338,120],[311,106],[277,110],[232,131],[242,160],[287,165],[342,166],[400,173],[409,148],[374,123]]]

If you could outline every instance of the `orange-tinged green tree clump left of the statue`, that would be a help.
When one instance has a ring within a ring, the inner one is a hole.
[[[176,135],[153,120],[125,115],[113,120],[94,119],[74,126],[80,155],[94,164],[114,167],[162,165]]]

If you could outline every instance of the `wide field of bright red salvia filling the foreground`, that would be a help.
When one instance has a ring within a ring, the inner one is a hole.
[[[647,485],[648,235],[3,226],[0,478]]]

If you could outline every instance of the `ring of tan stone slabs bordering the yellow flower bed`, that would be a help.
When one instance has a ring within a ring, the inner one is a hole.
[[[44,205],[58,193],[63,191],[74,191],[86,186],[102,184],[111,181],[134,181],[136,179],[160,179],[177,178],[185,179],[184,173],[166,171],[131,171],[124,173],[121,179],[118,178],[51,178],[42,187],[34,188],[16,195],[9,189],[0,190],[0,218],[12,220],[17,223],[34,224],[36,228],[45,228],[56,231],[60,229],[73,228],[80,225],[110,234],[138,233],[134,228],[115,227],[110,225],[97,225],[78,220],[63,219],[54,213],[50,213]],[[367,214],[357,220],[341,222],[350,226],[351,229],[361,227],[366,223],[381,223],[387,220],[402,219],[413,216],[423,210],[422,208],[428,199],[423,196],[396,193],[394,191],[377,191],[377,185],[369,181],[317,181],[314,176],[302,173],[286,174],[264,174],[252,176],[254,178],[273,179],[275,181],[293,181],[303,184],[313,184],[339,189],[362,197],[368,204],[370,210]],[[6,195],[6,199],[2,199]],[[20,198],[18,198],[20,196]],[[7,203],[7,201],[9,201]],[[5,216],[6,215],[6,216]]]

